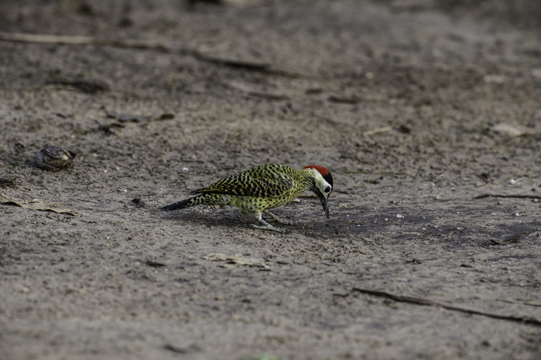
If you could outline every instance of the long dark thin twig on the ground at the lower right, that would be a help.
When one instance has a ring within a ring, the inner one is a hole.
[[[402,295],[391,294],[390,292],[361,289],[360,287],[354,287],[353,290],[356,292],[361,292],[363,294],[371,294],[371,295],[375,295],[379,297],[387,297],[387,299],[393,299],[394,301],[397,301],[397,302],[409,302],[411,304],[424,305],[424,306],[440,306],[443,309],[447,309],[451,311],[459,311],[466,314],[481,315],[481,316],[487,316],[489,318],[497,318],[500,320],[516,321],[516,322],[525,323],[528,325],[541,326],[541,320],[537,318],[531,318],[529,316],[506,316],[506,315],[500,315],[500,314],[492,314],[492,313],[487,313],[485,311],[466,309],[466,308],[461,308],[461,307],[453,306],[449,304],[443,304],[441,302],[433,302],[432,300],[419,299],[417,297],[404,297]]]

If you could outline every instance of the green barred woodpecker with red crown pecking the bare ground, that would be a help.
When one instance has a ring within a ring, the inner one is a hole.
[[[192,193],[198,194],[197,196],[164,206],[160,210],[185,209],[201,204],[234,206],[259,221],[261,225],[250,224],[252,228],[285,233],[290,230],[270,225],[263,220],[262,213],[270,216],[268,221],[293,225],[292,221],[282,220],[268,209],[285,205],[306,190],[311,190],[317,195],[325,215],[329,218],[327,200],[332,192],[330,171],[323,166],[309,165],[299,170],[277,163],[256,166],[242,173],[230,175],[208,187],[194,190]]]

